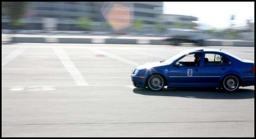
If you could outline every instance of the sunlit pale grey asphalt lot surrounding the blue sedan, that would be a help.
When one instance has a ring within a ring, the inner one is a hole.
[[[134,66],[193,48],[2,43],[2,137],[254,137],[254,86],[132,86]],[[254,61],[254,47],[222,50]]]

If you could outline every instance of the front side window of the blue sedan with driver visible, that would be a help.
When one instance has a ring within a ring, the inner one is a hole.
[[[177,61],[177,63],[179,63],[180,66],[200,66],[201,57],[202,53],[188,54]]]

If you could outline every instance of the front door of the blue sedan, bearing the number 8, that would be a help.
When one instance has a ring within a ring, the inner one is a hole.
[[[195,55],[200,55],[198,63],[195,63]],[[200,85],[202,53],[190,53],[170,66],[168,75],[169,87],[196,87]],[[194,63],[194,64],[193,64]]]

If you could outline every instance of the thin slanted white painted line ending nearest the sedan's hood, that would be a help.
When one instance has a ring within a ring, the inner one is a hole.
[[[125,58],[122,58],[122,57],[119,57],[119,56],[116,56],[116,55],[113,55],[112,53],[108,53],[108,52],[101,51],[101,50],[93,50],[93,49],[89,49],[89,48],[87,48],[87,49],[90,50],[90,51],[93,51],[95,53],[99,53],[101,55],[105,55],[105,56],[107,56],[109,58],[113,58],[113,59],[122,61],[124,63],[130,64],[130,65],[133,65],[133,66],[140,65],[139,63],[137,63],[135,61],[132,61],[132,60],[129,60],[129,59],[125,59]]]

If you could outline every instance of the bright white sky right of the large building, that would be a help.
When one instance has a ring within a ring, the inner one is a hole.
[[[163,13],[194,16],[206,28],[224,29],[230,26],[232,14],[236,26],[247,19],[254,22],[254,2],[163,2]]]

